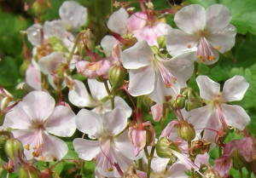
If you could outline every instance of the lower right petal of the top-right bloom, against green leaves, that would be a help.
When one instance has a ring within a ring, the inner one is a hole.
[[[221,53],[229,51],[235,45],[236,27],[229,25],[218,32],[211,33],[207,35],[207,41]]]

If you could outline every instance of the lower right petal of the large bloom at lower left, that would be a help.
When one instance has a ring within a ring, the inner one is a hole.
[[[52,162],[61,160],[67,154],[68,147],[65,141],[48,134],[43,135],[43,140],[42,157],[39,157],[39,160]]]

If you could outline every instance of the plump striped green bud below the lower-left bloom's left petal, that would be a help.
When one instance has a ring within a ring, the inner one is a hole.
[[[22,143],[17,139],[9,139],[4,144],[4,151],[10,159],[15,160],[23,153]]]

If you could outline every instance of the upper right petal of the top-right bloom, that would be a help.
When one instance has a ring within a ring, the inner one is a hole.
[[[232,15],[229,9],[222,4],[213,4],[207,8],[207,26],[209,32],[223,30],[230,24]]]

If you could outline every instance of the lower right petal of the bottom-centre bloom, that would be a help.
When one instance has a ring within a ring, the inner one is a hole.
[[[113,141],[115,148],[119,152],[122,152],[126,158],[130,158],[132,160],[137,159],[134,156],[134,146],[128,137],[128,130],[125,130],[121,135],[115,137]]]

